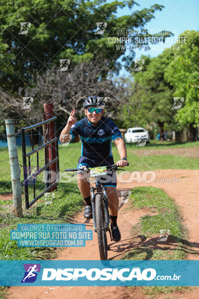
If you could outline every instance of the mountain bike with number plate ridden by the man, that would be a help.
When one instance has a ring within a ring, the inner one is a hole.
[[[110,215],[108,211],[106,187],[102,186],[100,183],[100,177],[107,175],[108,170],[125,171],[124,169],[118,168],[116,164],[113,164],[111,166],[100,166],[93,168],[85,166],[84,168],[65,169],[65,171],[77,171],[77,173],[75,174],[84,174],[85,172],[90,171],[91,177],[95,178],[96,187],[91,186],[91,203],[93,211],[94,231],[97,232],[98,235],[100,260],[107,260],[107,231],[109,232],[110,240],[112,241],[111,232],[109,228]]]

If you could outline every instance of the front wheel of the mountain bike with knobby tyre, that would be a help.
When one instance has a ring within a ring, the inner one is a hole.
[[[98,246],[100,251],[100,260],[107,260],[107,238],[105,230],[104,203],[102,194],[96,194],[95,197],[96,211],[96,229],[98,234]]]

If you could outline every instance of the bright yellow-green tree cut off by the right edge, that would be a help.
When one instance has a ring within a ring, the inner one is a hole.
[[[175,49],[165,79],[174,88],[173,96],[184,98],[175,119],[188,129],[192,140],[196,140],[199,127],[199,31],[183,32]]]

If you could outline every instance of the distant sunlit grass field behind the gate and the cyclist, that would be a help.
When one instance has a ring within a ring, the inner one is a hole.
[[[199,142],[189,142],[189,143],[169,143],[169,142],[158,142],[151,141],[147,144],[144,149],[165,149],[165,146],[170,148],[199,148]],[[129,166],[126,170],[155,170],[155,169],[199,169],[199,158],[189,158],[180,157],[175,155],[151,155],[151,156],[137,156],[133,153],[134,150],[143,149],[143,147],[136,147],[134,144],[126,144],[127,157],[129,161]],[[27,148],[26,152],[30,151],[31,148]],[[22,165],[22,152],[21,147],[17,147],[19,164]],[[112,143],[112,153],[114,161],[119,159],[119,154],[116,146]],[[170,153],[168,151],[168,153]],[[81,155],[81,143],[72,143],[68,147],[59,146],[59,165],[60,171],[64,173],[65,168],[74,168],[77,166],[78,158]],[[10,166],[7,148],[0,149],[0,181],[9,182],[10,181]],[[5,160],[5,161],[3,161]],[[36,166],[36,154],[30,157],[31,166]],[[39,166],[44,165],[44,155],[43,150],[39,151]],[[3,170],[3,171],[2,171]],[[66,175],[66,173],[64,174]],[[23,180],[23,171],[21,167],[21,181]],[[6,190],[5,190],[6,192]]]

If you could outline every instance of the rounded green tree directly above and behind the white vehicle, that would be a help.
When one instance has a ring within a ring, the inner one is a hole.
[[[144,64],[140,71],[132,72],[132,96],[124,106],[124,125],[126,127],[149,127],[158,125],[161,139],[164,129],[175,126],[173,104],[173,87],[164,79],[173,53],[168,51],[157,57],[141,56]],[[136,69],[136,68],[135,68]]]

